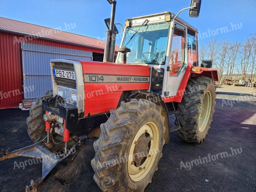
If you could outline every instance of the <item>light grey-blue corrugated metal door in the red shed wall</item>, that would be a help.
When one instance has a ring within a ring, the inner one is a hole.
[[[24,99],[36,100],[52,89],[50,71],[51,59],[72,59],[92,61],[92,52],[21,43]]]

